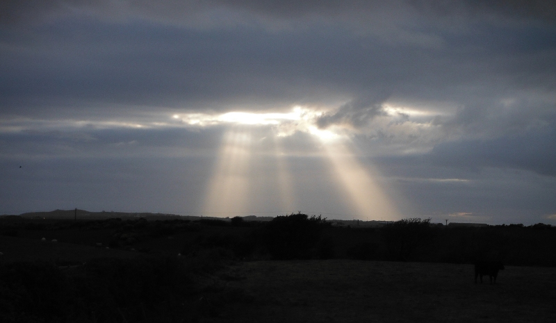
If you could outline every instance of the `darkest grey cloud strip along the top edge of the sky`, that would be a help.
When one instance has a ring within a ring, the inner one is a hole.
[[[363,13],[368,15],[384,8],[409,8],[433,15],[477,15],[496,14],[510,17],[534,17],[552,19],[556,17],[553,1],[525,1],[525,0],[491,0],[491,1],[359,1],[359,0],[315,0],[315,1],[257,1],[257,0],[206,0],[206,1],[109,1],[109,0],[7,0],[0,6],[5,22],[17,22],[22,19],[36,19],[39,15],[55,16],[69,15],[76,10],[89,10],[92,13],[104,15],[124,15],[133,13],[161,19],[174,20],[183,16],[188,17],[191,12],[227,8],[229,10],[246,11],[266,17],[281,17],[292,19],[314,15],[334,17],[345,13]]]

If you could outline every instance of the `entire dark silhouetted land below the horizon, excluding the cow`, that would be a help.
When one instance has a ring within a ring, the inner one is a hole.
[[[0,322],[556,322],[555,233],[6,218]],[[496,284],[474,258],[500,258]]]

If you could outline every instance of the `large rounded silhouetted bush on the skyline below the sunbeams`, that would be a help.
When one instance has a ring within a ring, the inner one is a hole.
[[[326,219],[297,213],[275,217],[264,228],[263,242],[275,259],[311,258]]]

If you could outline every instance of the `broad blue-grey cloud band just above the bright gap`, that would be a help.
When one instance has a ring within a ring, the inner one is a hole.
[[[500,42],[498,35],[501,30],[480,33],[473,46],[461,36],[446,35],[447,46],[432,50],[361,38],[342,28],[199,31],[65,20],[32,33],[3,31],[0,87],[6,111],[33,100],[47,106],[218,108],[222,101],[357,98],[369,88],[398,97],[464,100],[553,85],[554,29],[534,42],[528,33],[512,35],[507,43],[523,43],[521,51],[520,46],[513,51],[509,45],[507,50],[492,47],[491,40]],[[478,40],[482,36],[487,38]],[[477,83],[482,88],[470,88]]]

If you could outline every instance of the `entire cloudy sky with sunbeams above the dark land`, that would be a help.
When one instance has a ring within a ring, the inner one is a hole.
[[[0,3],[0,214],[556,224],[553,1]]]

